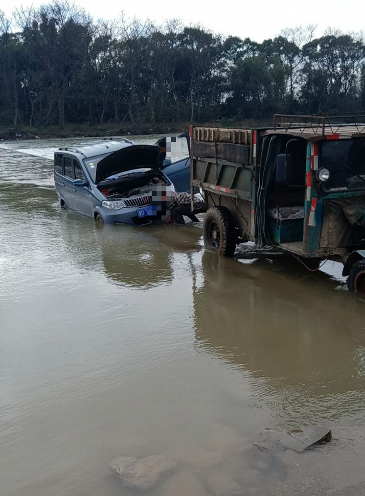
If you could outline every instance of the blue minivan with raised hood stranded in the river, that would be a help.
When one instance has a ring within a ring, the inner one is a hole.
[[[163,172],[160,148],[121,137],[59,148],[54,178],[62,208],[108,224],[156,222],[152,190],[164,182],[175,191]]]

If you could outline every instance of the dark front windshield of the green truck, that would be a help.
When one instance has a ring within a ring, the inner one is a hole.
[[[365,139],[330,139],[321,145],[320,167],[330,172],[325,191],[365,189]]]

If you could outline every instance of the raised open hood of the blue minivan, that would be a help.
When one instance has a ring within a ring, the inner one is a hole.
[[[130,145],[111,153],[97,165],[95,183],[121,172],[149,167],[156,171],[161,170],[159,161],[160,149],[153,145]]]

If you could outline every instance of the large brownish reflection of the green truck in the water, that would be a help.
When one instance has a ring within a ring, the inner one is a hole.
[[[315,423],[364,413],[364,306],[322,272],[298,284],[285,261],[238,264],[204,252],[194,292],[198,347],[249,372],[273,414]]]

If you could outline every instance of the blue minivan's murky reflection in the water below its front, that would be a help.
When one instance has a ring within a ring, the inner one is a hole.
[[[95,224],[90,229],[87,219],[76,217],[67,212],[63,219],[62,238],[70,256],[87,269],[102,263],[108,279],[122,287],[147,290],[171,283],[172,254],[201,249],[201,232],[194,226]]]

